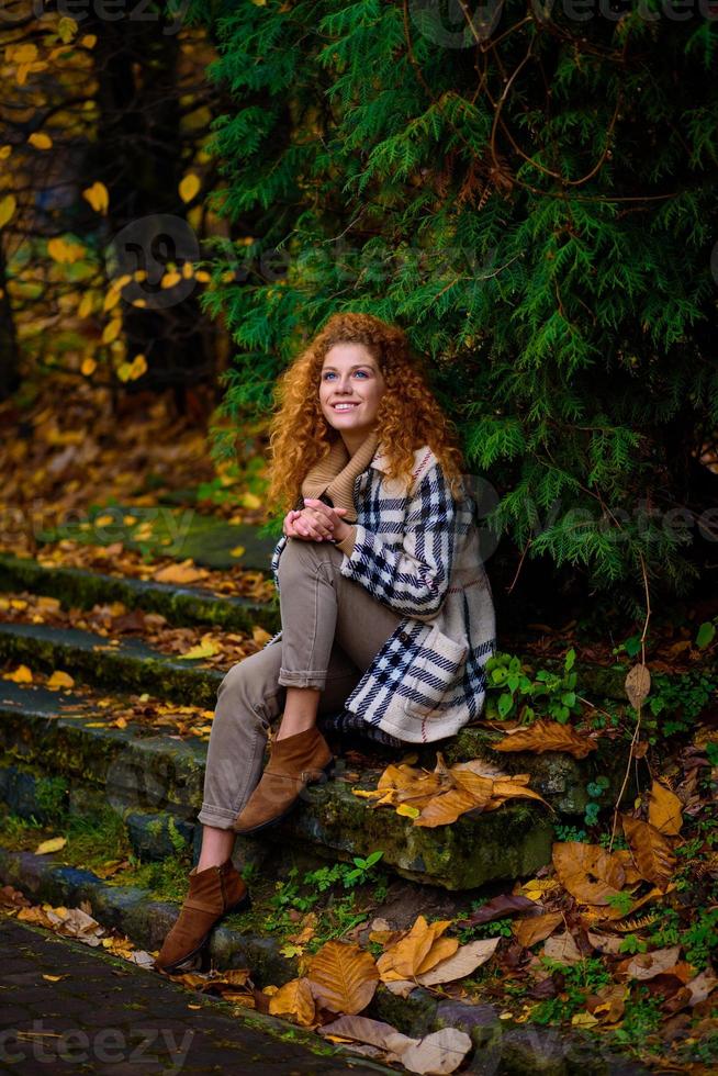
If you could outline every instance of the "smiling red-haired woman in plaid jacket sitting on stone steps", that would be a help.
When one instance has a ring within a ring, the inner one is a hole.
[[[165,972],[203,966],[211,928],[248,903],[236,833],[276,825],[325,780],[317,718],[343,711],[344,728],[397,746],[445,739],[481,713],[495,650],[461,453],[404,333],[336,314],[278,395],[269,496],[295,505],[271,565],[282,628],[220,685],[202,851],[155,962]]]

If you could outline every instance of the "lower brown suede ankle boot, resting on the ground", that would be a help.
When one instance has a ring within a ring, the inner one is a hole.
[[[179,917],[155,960],[168,974],[204,971],[212,927],[228,911],[249,906],[249,894],[231,859],[221,866],[190,871],[190,888]]]

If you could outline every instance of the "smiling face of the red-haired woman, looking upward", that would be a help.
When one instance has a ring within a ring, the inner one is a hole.
[[[381,370],[363,344],[335,344],[325,355],[319,403],[324,417],[340,431],[349,451],[358,448],[373,428],[385,389]]]

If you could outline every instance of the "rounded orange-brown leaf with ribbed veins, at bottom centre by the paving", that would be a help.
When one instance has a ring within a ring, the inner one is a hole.
[[[330,941],[312,957],[306,978],[322,1008],[356,1016],[374,996],[379,972],[371,953]]]

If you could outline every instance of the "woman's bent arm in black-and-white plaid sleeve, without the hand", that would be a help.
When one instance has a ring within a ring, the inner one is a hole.
[[[379,535],[355,524],[354,548],[345,551],[340,572],[397,613],[430,619],[441,608],[449,586],[456,524],[456,502],[441,467],[435,464],[411,497],[401,548],[388,546]]]

